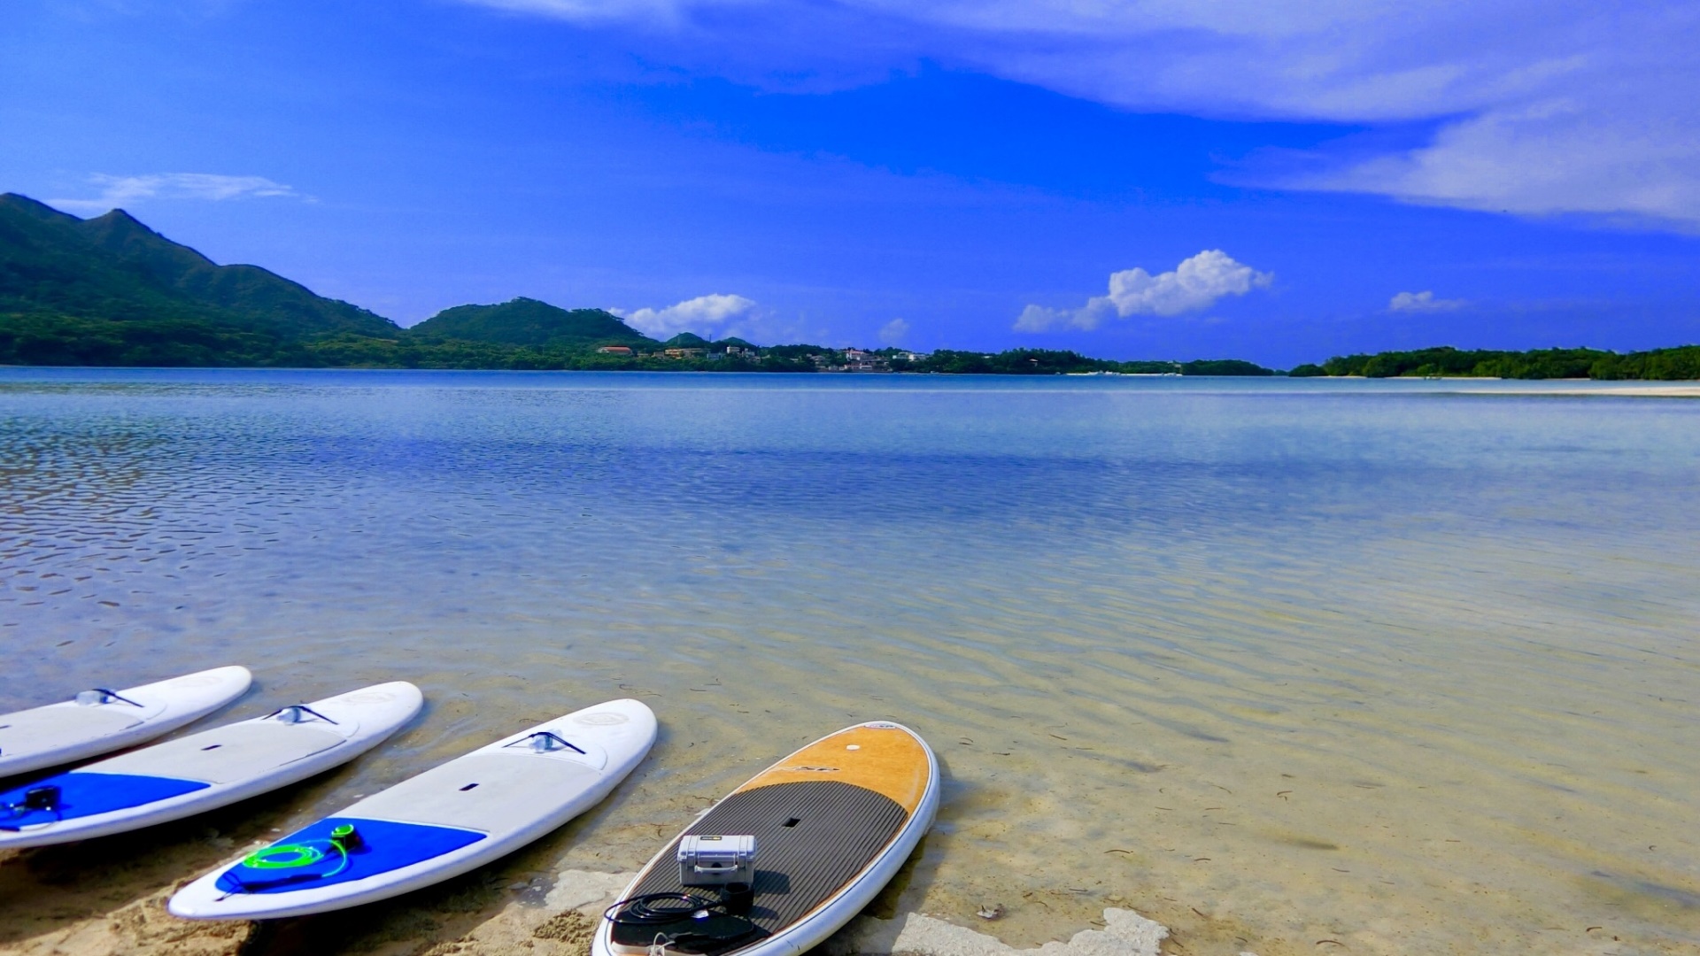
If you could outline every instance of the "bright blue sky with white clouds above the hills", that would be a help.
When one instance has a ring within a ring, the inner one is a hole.
[[[1700,12],[8,5],[0,189],[410,325],[1107,357],[1700,342]]]

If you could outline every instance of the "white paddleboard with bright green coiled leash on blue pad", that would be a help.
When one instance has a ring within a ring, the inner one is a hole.
[[[187,919],[340,910],[459,876],[602,801],[654,743],[609,701],[479,747],[226,864],[172,896]]]

